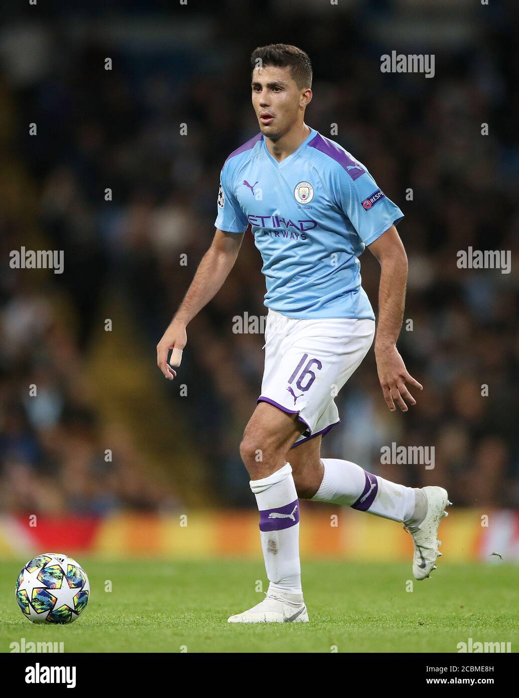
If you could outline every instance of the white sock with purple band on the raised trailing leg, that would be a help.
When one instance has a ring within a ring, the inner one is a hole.
[[[321,463],[324,466],[324,477],[313,501],[343,504],[403,523],[416,523],[426,514],[426,510],[423,511],[423,500],[425,506],[427,500],[421,490],[367,473],[351,461],[322,458]],[[420,498],[417,497],[417,492],[421,493]]]

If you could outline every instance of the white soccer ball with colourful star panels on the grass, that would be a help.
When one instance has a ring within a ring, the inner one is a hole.
[[[33,623],[72,623],[84,611],[89,595],[87,574],[60,553],[29,560],[16,582],[18,605]]]

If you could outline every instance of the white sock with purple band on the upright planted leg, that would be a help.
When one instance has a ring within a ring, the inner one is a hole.
[[[299,501],[287,463],[262,480],[250,480],[260,510],[260,537],[270,591],[301,594]]]

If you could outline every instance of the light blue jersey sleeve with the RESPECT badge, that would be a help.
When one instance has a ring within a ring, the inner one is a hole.
[[[361,170],[363,173],[359,176]],[[334,168],[330,184],[336,204],[349,218],[365,245],[375,242],[391,225],[399,223],[404,217],[363,166],[354,168],[353,177],[343,167]]]

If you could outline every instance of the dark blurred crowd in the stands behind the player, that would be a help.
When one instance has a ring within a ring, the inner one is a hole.
[[[519,507],[518,7],[25,4],[7,4],[0,31],[0,511],[255,507],[238,447],[264,341],[232,331],[266,314],[250,232],[173,383],[155,347],[211,243],[220,168],[259,130],[250,53],[278,41],[313,60],[306,122],[405,213],[398,346],[424,385],[389,413],[370,352],[323,455],[442,484],[458,505]],[[435,54],[435,77],[381,73],[391,50]],[[63,250],[63,274],[10,268],[22,246]],[[511,251],[511,273],[458,268],[469,246]],[[361,266],[376,312],[368,250]],[[382,466],[391,443],[434,446],[435,468]]]

